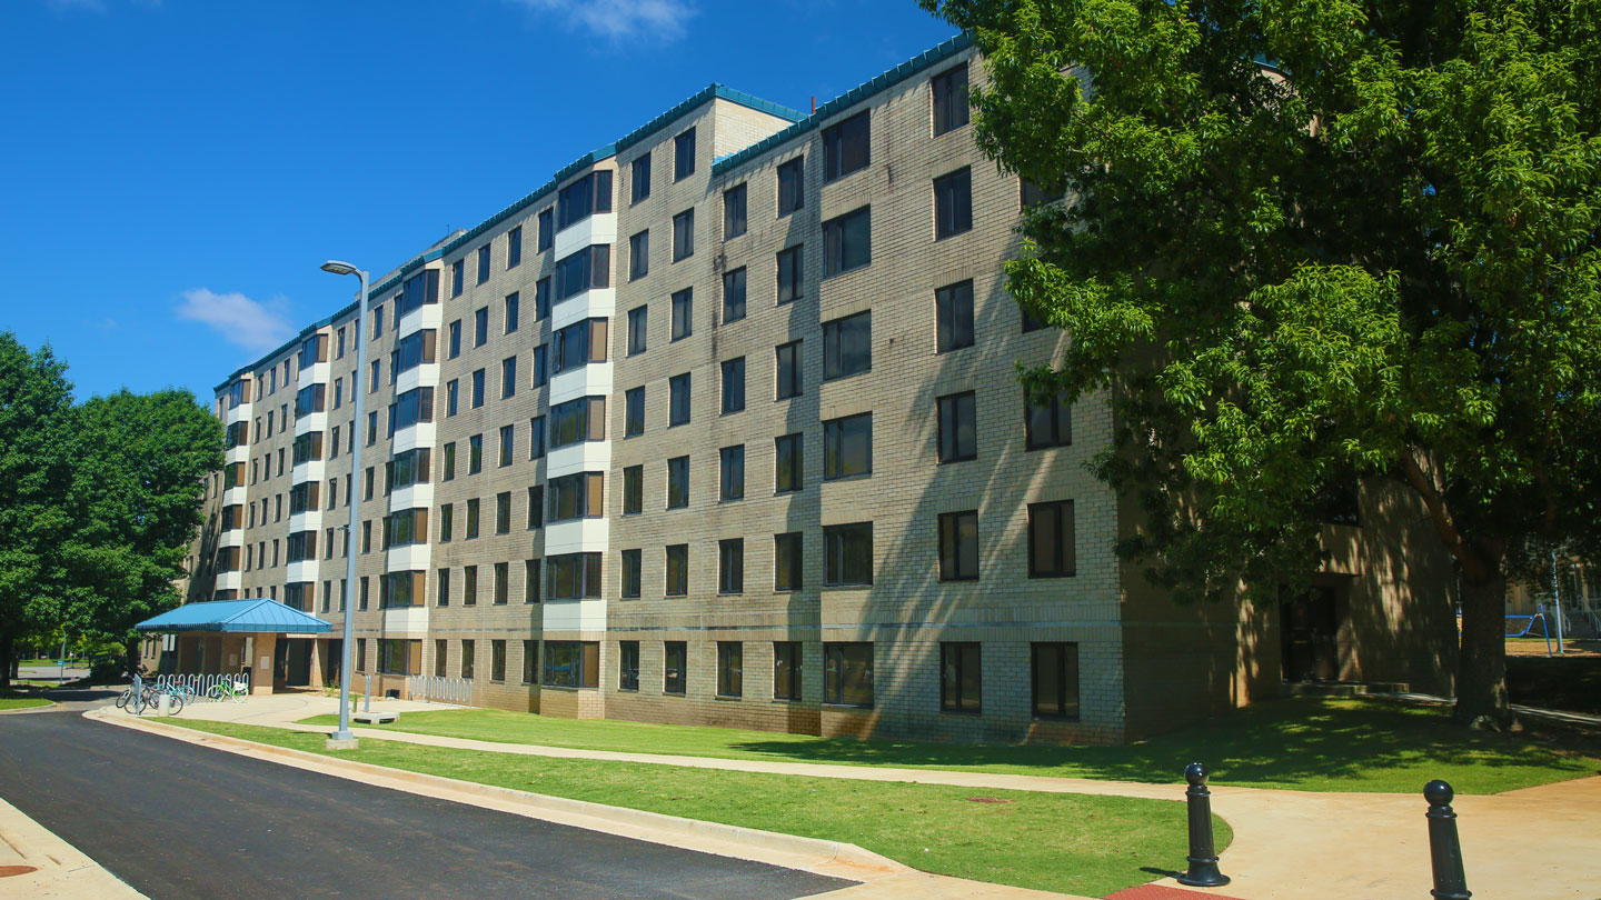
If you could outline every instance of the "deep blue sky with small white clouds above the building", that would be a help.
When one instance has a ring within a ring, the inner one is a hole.
[[[914,0],[5,0],[0,330],[78,397],[211,388],[711,82],[805,110]]]

